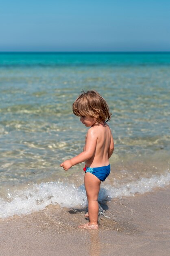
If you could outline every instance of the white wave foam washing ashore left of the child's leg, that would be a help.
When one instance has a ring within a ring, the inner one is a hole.
[[[84,186],[76,188],[73,184],[48,182],[34,184],[30,188],[8,193],[9,202],[0,198],[0,218],[29,214],[45,209],[50,204],[72,207],[87,204]]]

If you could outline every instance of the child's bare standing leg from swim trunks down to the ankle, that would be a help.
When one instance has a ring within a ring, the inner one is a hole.
[[[101,181],[92,173],[85,173],[85,190],[88,200],[89,225],[98,223],[98,193]]]

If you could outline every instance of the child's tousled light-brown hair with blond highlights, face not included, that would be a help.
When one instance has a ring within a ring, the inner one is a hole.
[[[100,124],[104,121],[109,121],[111,113],[109,107],[101,97],[101,95],[94,91],[82,91],[80,96],[72,105],[72,110],[74,115],[78,117],[94,117],[96,118],[96,123]]]

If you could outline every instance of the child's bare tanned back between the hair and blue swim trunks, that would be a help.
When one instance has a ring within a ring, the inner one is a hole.
[[[103,124],[95,124],[91,128],[89,128],[88,132],[93,132],[96,137],[96,148],[94,155],[86,160],[86,165],[88,167],[101,167],[109,165],[109,151],[111,148],[114,148],[113,137],[111,135],[111,130],[106,123]],[[86,141],[87,136],[86,135]],[[86,143],[84,146],[84,150],[87,150]]]

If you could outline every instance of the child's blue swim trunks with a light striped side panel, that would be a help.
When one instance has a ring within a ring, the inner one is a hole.
[[[98,179],[101,181],[105,181],[107,176],[109,176],[110,174],[110,164],[107,166],[95,167],[95,168],[86,166],[85,168],[86,168],[85,173],[92,173],[96,177],[98,177]]]

